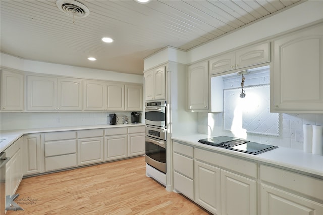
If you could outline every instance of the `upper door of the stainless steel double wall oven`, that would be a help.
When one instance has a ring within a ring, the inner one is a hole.
[[[145,119],[146,125],[166,127],[166,107],[147,107]]]

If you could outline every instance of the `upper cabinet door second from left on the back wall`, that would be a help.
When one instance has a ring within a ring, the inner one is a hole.
[[[27,110],[57,109],[57,79],[27,76]]]

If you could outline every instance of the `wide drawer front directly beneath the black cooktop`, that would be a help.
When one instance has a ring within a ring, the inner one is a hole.
[[[221,168],[226,168],[244,175],[251,176],[253,178],[257,177],[257,164],[252,161],[247,161],[198,148],[195,149],[195,158]]]

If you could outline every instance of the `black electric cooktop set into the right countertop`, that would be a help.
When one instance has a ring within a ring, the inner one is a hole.
[[[253,155],[258,155],[260,153],[278,148],[277,146],[273,145],[259,144],[258,142],[250,142],[229,136],[210,137],[207,139],[200,139],[198,142]]]

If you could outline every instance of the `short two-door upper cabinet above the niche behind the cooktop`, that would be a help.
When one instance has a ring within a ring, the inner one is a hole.
[[[270,61],[270,43],[256,44],[209,60],[210,74],[224,73]]]

